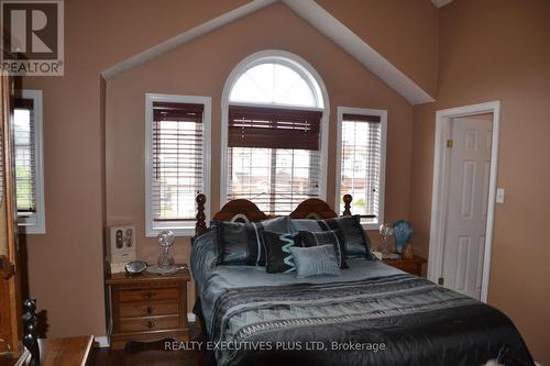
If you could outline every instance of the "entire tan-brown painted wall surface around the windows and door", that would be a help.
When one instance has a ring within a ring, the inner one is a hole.
[[[414,130],[411,108],[400,97],[294,14],[275,5],[264,15],[263,11],[229,25],[109,82],[103,131],[101,70],[246,1],[134,0],[131,7],[125,0],[65,1],[65,76],[23,81],[25,88],[44,90],[47,233],[28,236],[25,246],[30,295],[37,298],[40,309],[47,310],[50,336],[105,334],[103,220],[131,219],[143,225],[143,93],[211,96],[213,125],[219,125],[217,106],[227,75],[249,53],[270,46],[302,56],[321,74],[330,91],[332,132],[338,104],[389,110],[388,219],[407,218],[410,179],[410,219],[419,252],[426,253],[428,243],[433,111],[503,101],[498,186],[506,188],[507,197],[506,204],[496,210],[490,301],[512,317],[536,358],[550,364],[544,347],[550,339],[544,312],[550,297],[544,290],[550,253],[544,244],[550,235],[543,230],[550,217],[544,204],[550,180],[546,158],[550,153],[548,2],[455,0],[440,11],[438,57],[438,19],[428,0],[417,7],[408,0],[350,1],[319,2],[428,92],[439,87],[438,103],[414,108]],[[267,13],[285,26],[276,24],[270,32],[263,26],[271,21],[265,19]],[[251,31],[243,24],[256,27]],[[229,37],[226,31],[240,37]],[[188,57],[185,51],[189,49],[197,54]],[[219,57],[211,57],[212,53]],[[436,82],[438,59],[440,80]],[[162,71],[164,67],[173,73]],[[207,70],[208,77],[189,73],[191,67]],[[208,80],[200,82],[200,88],[199,77]],[[120,97],[125,91],[128,100]],[[121,112],[113,108],[114,100],[129,109]],[[121,117],[120,122],[114,121],[117,117]],[[219,130],[213,131],[213,141],[219,141]],[[120,151],[112,138],[127,132],[135,144]],[[334,136],[330,146],[333,156]],[[215,145],[212,153],[218,156],[219,147]],[[407,164],[407,154],[413,154],[413,167]],[[121,166],[122,162],[131,164]],[[118,168],[139,177],[129,182],[128,195],[113,181],[118,177],[113,169]],[[217,162],[213,171],[219,171]],[[332,168],[329,177],[333,176]],[[212,187],[218,187],[217,174],[213,178]],[[333,180],[329,182],[331,200]],[[217,190],[212,199],[217,207]],[[178,248],[178,258],[185,259],[188,246],[182,242]],[[156,245],[150,241],[139,251],[147,258],[156,256]]]

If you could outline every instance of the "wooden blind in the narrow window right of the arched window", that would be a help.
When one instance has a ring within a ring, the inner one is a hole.
[[[354,213],[376,219],[380,208],[380,115],[343,114],[340,193],[353,196]],[[341,207],[343,210],[343,207]]]

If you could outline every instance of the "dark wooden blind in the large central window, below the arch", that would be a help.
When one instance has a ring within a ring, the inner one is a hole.
[[[322,112],[229,108],[228,200],[252,200],[271,214],[288,214],[320,195]]]

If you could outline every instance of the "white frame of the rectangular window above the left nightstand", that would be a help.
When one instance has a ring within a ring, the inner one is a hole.
[[[211,120],[212,120],[212,99],[200,96],[178,96],[145,93],[145,237],[154,237],[163,230],[172,230],[176,236],[194,236],[195,220],[185,221],[180,226],[170,225],[168,222],[165,228],[155,228],[153,222],[153,102],[175,102],[175,103],[196,103],[205,106],[202,117],[202,190],[201,192],[210,197],[210,167],[211,167]],[[210,221],[210,204],[205,207],[206,221]]]

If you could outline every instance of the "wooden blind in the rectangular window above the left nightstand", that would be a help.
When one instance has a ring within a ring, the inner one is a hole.
[[[153,102],[152,218],[191,221],[202,190],[204,106]]]

